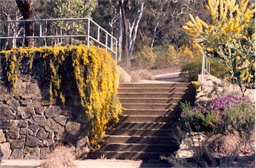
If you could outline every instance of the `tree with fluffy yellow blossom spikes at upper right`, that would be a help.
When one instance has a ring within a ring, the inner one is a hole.
[[[244,94],[245,85],[255,78],[255,34],[247,25],[254,17],[254,4],[248,0],[209,0],[205,5],[211,23],[189,15],[183,30],[202,54],[227,65]]]

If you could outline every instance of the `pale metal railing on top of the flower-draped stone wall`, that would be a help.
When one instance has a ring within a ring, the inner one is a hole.
[[[87,21],[87,31],[85,35],[43,35],[43,29],[42,29],[42,23],[47,21]],[[7,36],[1,36],[0,33],[0,40],[1,39],[47,39],[47,38],[75,38],[75,37],[87,37],[87,47],[90,46],[90,40],[97,42],[101,46],[105,47],[106,50],[110,50],[115,54],[115,61],[117,62],[117,39],[113,37],[108,31],[103,29],[99,24],[95,23],[92,19],[89,18],[63,18],[63,19],[27,19],[27,20],[11,20],[11,21],[0,21],[0,28],[1,24],[3,23],[26,23],[26,22],[37,22],[39,23],[39,35],[35,36],[29,36],[25,37],[25,35],[20,37],[7,37]],[[91,36],[91,25],[95,25],[97,27],[97,37],[96,39]],[[100,39],[100,33],[105,33],[105,42],[101,41]],[[108,42],[108,39],[110,38],[110,44]],[[0,48],[1,48],[1,42],[0,42]]]

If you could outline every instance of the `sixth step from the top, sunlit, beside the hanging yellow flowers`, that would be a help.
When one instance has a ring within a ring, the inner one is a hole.
[[[180,114],[181,114],[181,110],[125,109],[123,110],[122,116],[179,116]]]

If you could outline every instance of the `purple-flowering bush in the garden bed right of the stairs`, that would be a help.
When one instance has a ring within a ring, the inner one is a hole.
[[[181,103],[181,121],[193,131],[227,132],[229,127],[251,126],[254,124],[255,108],[247,97],[232,94],[201,101],[195,106]],[[240,122],[240,123],[238,123]]]

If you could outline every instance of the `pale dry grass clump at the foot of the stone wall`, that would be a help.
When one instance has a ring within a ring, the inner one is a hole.
[[[72,153],[69,147],[58,146],[47,155],[47,159],[42,163],[41,168],[76,168],[77,166],[73,163],[74,159],[75,154]]]

